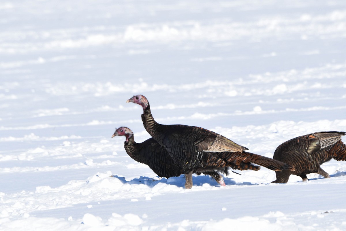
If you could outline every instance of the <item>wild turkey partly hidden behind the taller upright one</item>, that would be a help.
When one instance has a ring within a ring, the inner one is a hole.
[[[126,153],[137,162],[148,165],[158,176],[169,178],[183,174],[182,168],[175,163],[166,149],[161,147],[153,138],[147,139],[142,143],[136,143],[133,132],[127,127],[116,129],[112,138],[115,136],[125,136],[124,148]],[[222,168],[220,172],[228,174],[228,168]],[[201,174],[201,172],[194,173],[197,175]],[[210,175],[216,182],[225,186],[223,177],[217,172],[207,171],[203,173]]]

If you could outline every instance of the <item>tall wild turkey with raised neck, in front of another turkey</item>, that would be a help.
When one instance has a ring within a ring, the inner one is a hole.
[[[213,131],[186,125],[164,125],[157,123],[150,110],[148,100],[143,95],[135,95],[126,101],[142,106],[142,121],[147,132],[169,153],[183,169],[185,188],[192,187],[191,173],[218,170],[225,167],[239,167],[242,170],[258,170],[259,164],[275,171],[293,170],[280,161],[247,153],[247,148]]]

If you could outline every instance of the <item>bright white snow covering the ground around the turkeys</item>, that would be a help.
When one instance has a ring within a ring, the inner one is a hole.
[[[272,157],[346,131],[342,0],[0,2],[0,230],[345,230],[346,163],[331,178],[159,178],[114,129],[199,126]]]

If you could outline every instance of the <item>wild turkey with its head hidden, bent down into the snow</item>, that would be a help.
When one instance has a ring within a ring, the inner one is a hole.
[[[341,141],[345,132],[322,131],[288,140],[274,152],[273,159],[283,161],[295,167],[294,171],[276,172],[272,183],[287,183],[291,174],[307,181],[309,173],[318,173],[330,178],[320,165],[334,158],[346,160],[346,145]]]

